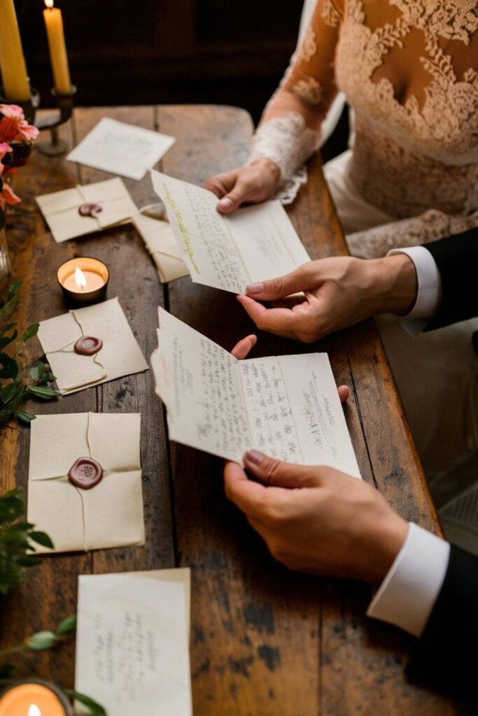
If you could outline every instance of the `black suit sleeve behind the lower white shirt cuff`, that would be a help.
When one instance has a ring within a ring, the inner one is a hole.
[[[451,546],[444,584],[408,677],[478,704],[478,558]]]

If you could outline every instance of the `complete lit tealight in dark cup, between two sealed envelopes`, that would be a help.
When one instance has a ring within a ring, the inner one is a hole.
[[[68,303],[87,306],[105,298],[110,272],[98,258],[82,256],[62,263],[57,277]]]

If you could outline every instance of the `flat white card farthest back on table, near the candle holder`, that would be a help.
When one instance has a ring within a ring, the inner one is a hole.
[[[140,180],[176,139],[103,117],[67,156],[72,162]]]

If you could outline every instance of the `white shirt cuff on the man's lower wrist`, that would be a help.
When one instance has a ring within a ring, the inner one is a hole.
[[[367,610],[420,637],[448,569],[450,546],[413,522],[403,546]]]

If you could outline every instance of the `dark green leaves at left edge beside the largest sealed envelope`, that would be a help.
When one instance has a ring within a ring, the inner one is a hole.
[[[32,555],[35,544],[53,547],[47,533],[39,532],[34,525],[21,520],[25,512],[25,500],[20,490],[0,497],[0,594],[7,594],[11,587],[21,582],[24,569],[39,564]]]

